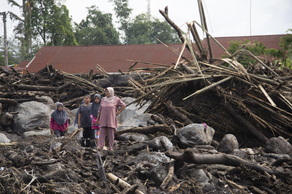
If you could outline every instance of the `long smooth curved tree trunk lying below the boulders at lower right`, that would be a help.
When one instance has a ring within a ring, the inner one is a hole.
[[[247,166],[251,169],[262,172],[266,171],[270,175],[290,175],[289,173],[279,172],[275,169],[267,169],[266,167],[254,164],[238,156],[231,154],[194,154],[191,149],[186,149],[184,153],[167,151],[165,156],[192,164],[223,164],[226,166]]]

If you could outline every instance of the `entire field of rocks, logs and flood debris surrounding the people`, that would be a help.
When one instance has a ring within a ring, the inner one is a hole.
[[[245,69],[241,56],[254,64]],[[194,57],[97,80],[52,65],[2,69],[0,192],[291,193],[291,70],[244,49],[217,62]],[[75,113],[85,94],[109,86],[127,105],[114,150],[83,148]],[[66,138],[48,129],[57,102]]]

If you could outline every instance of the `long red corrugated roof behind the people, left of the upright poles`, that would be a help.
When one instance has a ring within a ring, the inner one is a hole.
[[[182,44],[171,44],[179,52]],[[191,58],[190,52],[185,49],[183,55]],[[178,55],[165,45],[97,45],[97,46],[43,46],[36,53],[28,65],[29,72],[37,72],[46,64],[53,65],[57,70],[68,73],[88,73],[96,70],[99,64],[106,72],[118,72],[118,69],[127,71],[134,62],[120,61],[133,60],[163,65],[176,63]],[[135,68],[157,67],[137,63]]]

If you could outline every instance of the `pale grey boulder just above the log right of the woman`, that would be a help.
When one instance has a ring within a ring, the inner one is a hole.
[[[116,130],[120,131],[122,129],[130,129],[133,127],[138,127],[139,125],[147,127],[148,123],[151,123],[152,125],[157,124],[150,117],[151,117],[151,114],[148,114],[148,113],[132,116],[130,119],[123,122],[122,125],[118,126]]]

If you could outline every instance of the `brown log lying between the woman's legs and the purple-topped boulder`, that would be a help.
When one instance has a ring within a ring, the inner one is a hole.
[[[170,129],[168,125],[151,125],[147,127],[135,127],[131,129],[123,129],[120,131],[116,131],[115,137],[118,137],[124,133],[130,133],[130,132],[143,133],[143,134],[153,134],[156,132],[163,132],[166,134],[171,134],[172,130]]]

